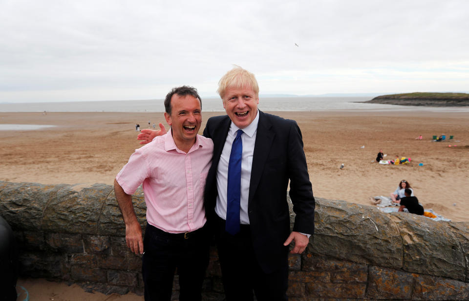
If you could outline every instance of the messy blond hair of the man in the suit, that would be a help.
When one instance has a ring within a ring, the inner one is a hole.
[[[244,88],[249,87],[252,88],[256,97],[259,97],[259,85],[257,84],[256,77],[251,72],[241,68],[240,66],[235,65],[233,69],[228,71],[219,81],[218,81],[218,89],[216,93],[218,93],[223,99],[225,96],[226,89],[229,87],[235,88]]]

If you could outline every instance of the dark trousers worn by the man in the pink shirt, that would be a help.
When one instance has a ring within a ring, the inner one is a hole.
[[[174,272],[179,275],[179,300],[200,301],[209,263],[206,227],[184,236],[147,224],[142,262],[145,301],[170,301]]]

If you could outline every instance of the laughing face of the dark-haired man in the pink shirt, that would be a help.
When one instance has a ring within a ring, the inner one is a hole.
[[[200,101],[192,95],[171,97],[171,115],[165,113],[166,122],[171,125],[172,137],[176,146],[185,152],[195,143],[202,114]]]

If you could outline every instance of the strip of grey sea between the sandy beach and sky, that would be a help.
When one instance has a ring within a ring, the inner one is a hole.
[[[269,97],[259,99],[259,109],[275,111],[430,111],[469,112],[469,107],[422,107],[362,103],[370,97]],[[0,112],[164,112],[163,100],[107,100],[0,103]],[[219,98],[202,99],[202,112],[224,112]]]

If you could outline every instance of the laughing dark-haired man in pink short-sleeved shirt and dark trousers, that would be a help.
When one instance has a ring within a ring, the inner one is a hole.
[[[135,150],[114,181],[127,245],[143,254],[146,301],[171,300],[176,268],[179,300],[201,300],[209,260],[203,195],[213,154],[212,140],[197,135],[201,107],[196,89],[172,89],[165,99],[171,130]],[[148,223],[144,240],[131,198],[142,183]]]

